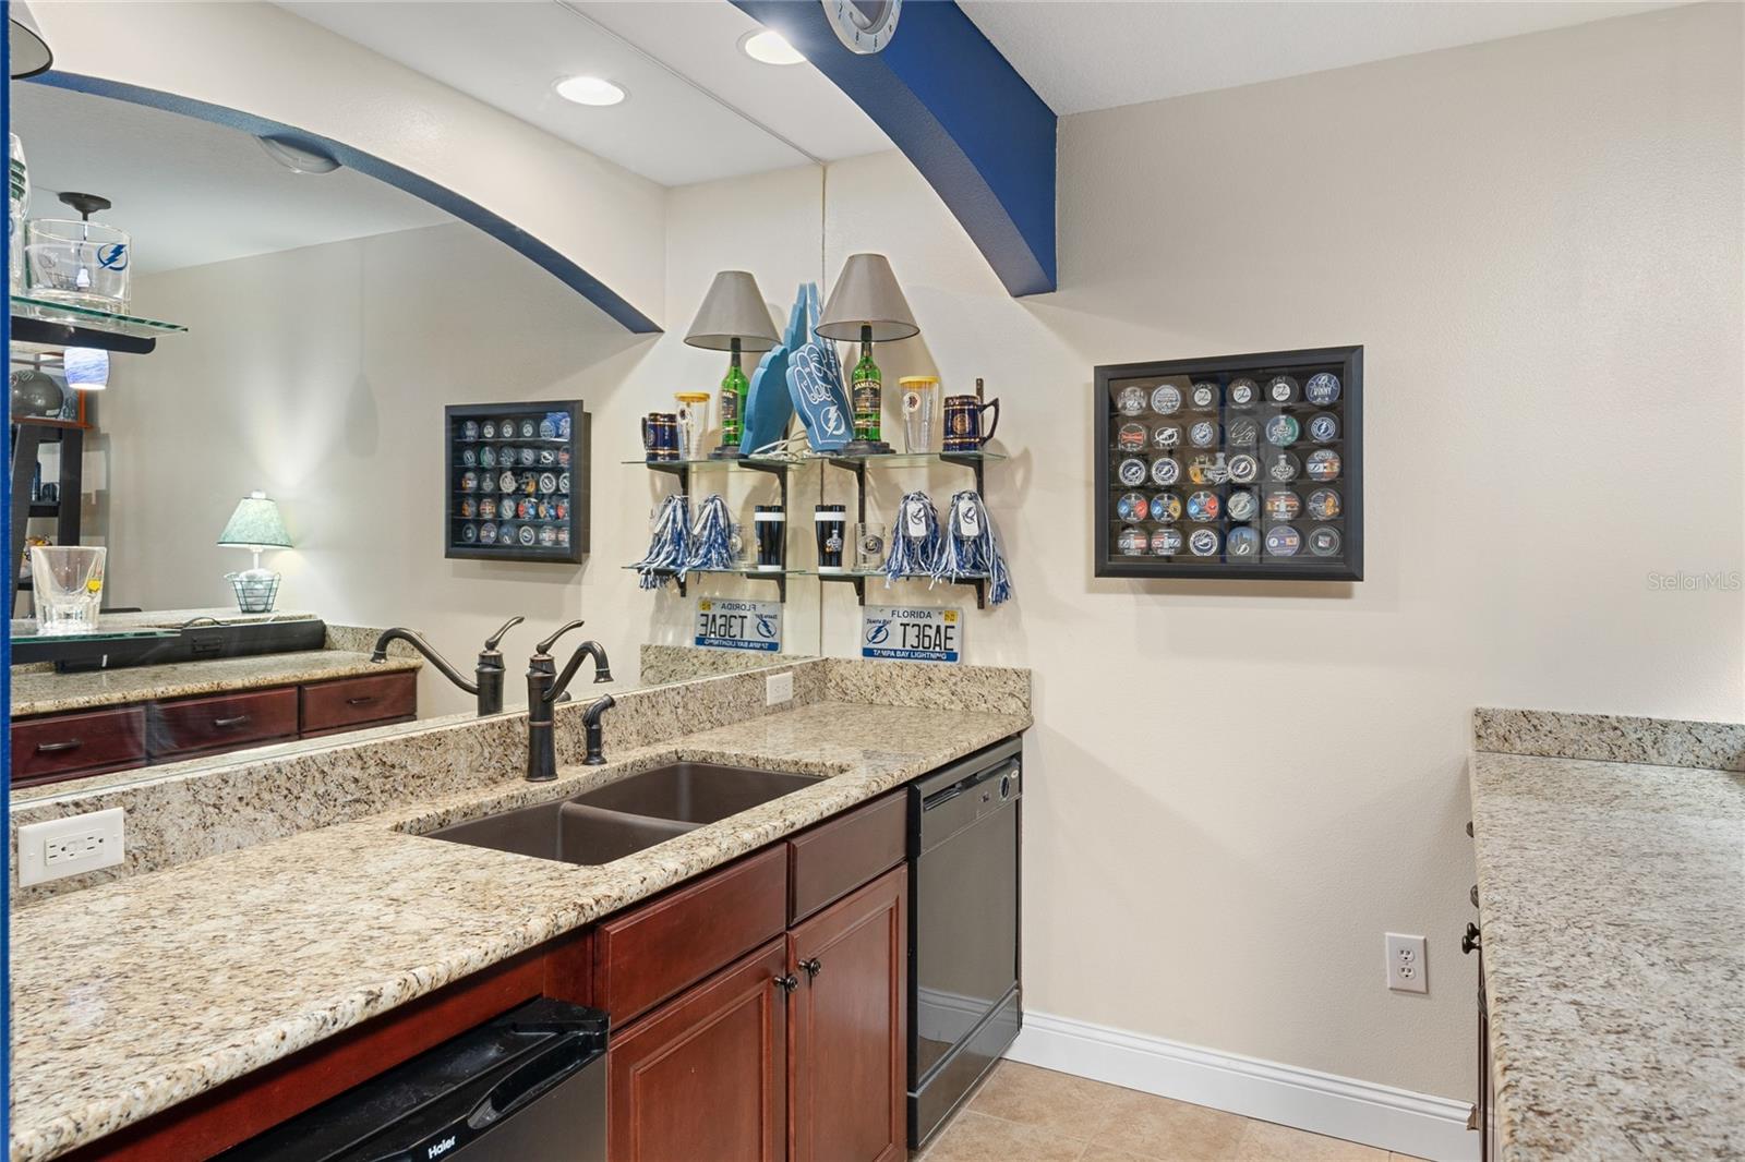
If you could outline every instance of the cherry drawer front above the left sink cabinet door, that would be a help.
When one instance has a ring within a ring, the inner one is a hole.
[[[602,923],[593,1003],[621,1026],[785,928],[787,851],[775,846]]]

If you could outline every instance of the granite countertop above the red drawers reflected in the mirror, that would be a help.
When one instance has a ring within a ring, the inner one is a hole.
[[[417,670],[417,658],[389,656],[370,661],[370,654],[346,649],[302,649],[288,654],[253,654],[248,658],[213,658],[208,661],[173,661],[161,666],[124,666],[56,673],[52,670],[12,672],[12,717],[94,710],[129,701],[157,698],[192,698],[223,694],[262,686],[323,682],[340,677],[368,677]]]

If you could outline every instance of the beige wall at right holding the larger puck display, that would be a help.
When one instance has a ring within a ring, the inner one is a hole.
[[[886,379],[1005,398],[967,649],[1037,672],[1030,1007],[1471,1096],[1471,708],[1745,712],[1745,600],[1647,578],[1745,567],[1740,61],[1694,7],[1068,117],[1024,300],[899,157],[831,167],[831,274],[888,253],[921,323]],[[1366,581],[1091,576],[1094,365],[1330,344]]]

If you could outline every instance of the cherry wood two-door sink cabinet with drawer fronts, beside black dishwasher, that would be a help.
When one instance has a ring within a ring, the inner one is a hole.
[[[906,1157],[900,806],[857,808],[600,925],[612,1162]]]

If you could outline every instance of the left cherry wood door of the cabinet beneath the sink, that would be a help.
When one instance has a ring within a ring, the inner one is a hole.
[[[747,954],[612,1029],[606,1153],[612,1162],[787,1157],[787,944]]]

